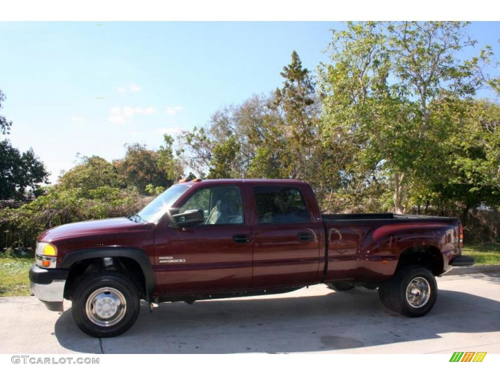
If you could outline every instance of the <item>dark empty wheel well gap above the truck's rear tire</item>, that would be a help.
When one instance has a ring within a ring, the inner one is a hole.
[[[412,246],[404,249],[399,255],[396,271],[405,265],[421,265],[428,268],[434,276],[440,275],[444,269],[441,251],[430,245]]]

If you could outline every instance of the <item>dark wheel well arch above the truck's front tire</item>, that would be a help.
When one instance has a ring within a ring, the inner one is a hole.
[[[64,298],[70,299],[73,291],[85,277],[102,271],[115,271],[126,275],[137,287],[140,298],[146,299],[146,282],[139,263],[132,258],[123,256],[88,258],[74,262],[69,268],[66,278]]]

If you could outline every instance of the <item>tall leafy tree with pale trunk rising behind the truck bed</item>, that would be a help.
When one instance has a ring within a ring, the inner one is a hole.
[[[403,212],[429,184],[449,177],[440,140],[452,126],[435,108],[475,93],[477,58],[460,61],[473,45],[464,22],[347,22],[334,31],[331,64],[320,69],[326,130],[337,129],[358,145],[355,170],[365,185],[385,179],[391,203]],[[368,172],[371,170],[371,172]]]

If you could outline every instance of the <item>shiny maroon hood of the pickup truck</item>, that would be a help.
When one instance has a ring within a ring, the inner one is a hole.
[[[47,229],[40,234],[38,241],[47,242],[63,237],[124,231],[137,228],[138,225],[141,224],[133,222],[126,217],[78,221]]]

